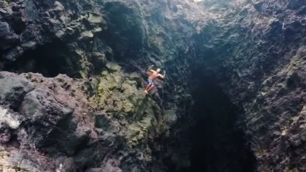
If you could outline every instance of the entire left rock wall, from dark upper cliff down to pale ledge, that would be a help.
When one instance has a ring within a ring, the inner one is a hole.
[[[182,3],[0,1],[0,168],[168,170],[151,145],[185,114],[186,82],[142,88],[147,66],[178,64],[193,33]]]

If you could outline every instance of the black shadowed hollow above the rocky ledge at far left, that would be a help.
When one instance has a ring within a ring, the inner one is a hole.
[[[74,75],[71,55],[61,41],[53,41],[24,52],[16,61],[5,64],[4,70],[41,73],[46,77],[54,77],[59,73]]]

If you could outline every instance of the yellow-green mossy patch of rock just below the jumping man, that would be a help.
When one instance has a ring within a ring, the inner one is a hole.
[[[124,73],[118,64],[108,62],[98,80],[92,101],[99,109],[114,114],[112,118],[117,118],[117,114],[123,118],[121,120],[128,122],[125,137],[131,145],[145,142],[150,135],[163,128],[162,110],[142,88],[137,88],[144,81],[139,74]],[[99,117],[96,126],[109,128],[107,121],[105,117]]]

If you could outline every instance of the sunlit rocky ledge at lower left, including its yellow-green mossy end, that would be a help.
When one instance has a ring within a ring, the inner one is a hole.
[[[140,76],[106,66],[89,80],[1,72],[3,171],[122,171],[151,161],[162,110],[137,87]]]

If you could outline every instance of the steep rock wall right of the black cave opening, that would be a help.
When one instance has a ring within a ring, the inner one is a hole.
[[[305,5],[233,1],[196,37],[198,68],[242,109],[259,171],[304,170]]]

